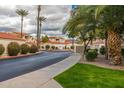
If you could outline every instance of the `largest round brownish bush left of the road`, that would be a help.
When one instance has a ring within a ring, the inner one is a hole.
[[[20,46],[17,42],[11,42],[7,47],[9,56],[16,56],[20,52]]]

